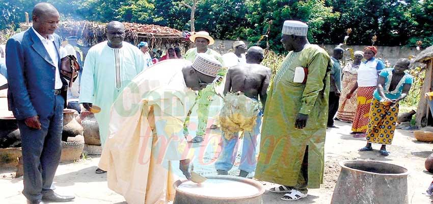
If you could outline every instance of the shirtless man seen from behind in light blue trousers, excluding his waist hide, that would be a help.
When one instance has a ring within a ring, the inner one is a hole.
[[[228,70],[224,95],[227,95],[228,92],[241,92],[253,100],[258,100],[260,95],[260,100],[264,107],[266,103],[266,90],[270,79],[270,69],[260,65],[263,61],[263,49],[258,46],[250,47],[246,59],[247,64],[239,64]],[[244,133],[239,176],[247,177],[256,168],[257,135],[260,133],[261,115],[262,113],[259,113],[257,116],[253,131]],[[215,168],[218,174],[227,175],[236,159],[237,142],[239,140],[238,133],[232,139],[226,139],[223,133],[222,140],[223,150],[217,162],[215,162]]]

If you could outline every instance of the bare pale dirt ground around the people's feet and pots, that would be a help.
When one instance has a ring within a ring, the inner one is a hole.
[[[1,98],[3,99],[3,98]],[[1,111],[1,110],[0,110]],[[350,132],[350,124],[336,122],[338,129],[329,129],[326,138],[324,183],[320,189],[310,189],[308,197],[288,202],[280,199],[281,194],[266,191],[263,195],[263,203],[330,203],[335,183],[340,171],[339,162],[345,160],[363,159],[383,161],[403,166],[410,171],[408,176],[409,203],[430,203],[430,197],[423,193],[431,183],[432,174],[424,169],[424,161],[431,154],[433,145],[417,142],[413,133],[397,130],[393,144],[388,146],[390,156],[384,157],[378,153],[380,146],[373,145],[376,150],[371,152],[359,152],[357,149],[365,145],[365,139],[353,138]],[[215,175],[213,162],[218,155],[220,131],[210,131],[211,138],[207,145],[199,144],[195,148],[205,153],[194,161],[195,171],[207,176]],[[76,199],[68,203],[126,203],[121,195],[111,191],[106,185],[105,174],[95,174],[94,170],[99,162],[98,156],[92,159],[81,160],[75,163],[62,163],[56,173],[56,192],[65,195],[74,195]],[[230,174],[238,173],[237,164]],[[266,189],[274,184],[261,182]],[[21,194],[22,177],[14,178],[14,169],[0,169],[0,203],[25,203],[25,197]]]

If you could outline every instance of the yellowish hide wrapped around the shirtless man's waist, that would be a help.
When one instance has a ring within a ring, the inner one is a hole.
[[[240,131],[252,131],[260,112],[259,101],[243,93],[227,93],[221,109],[219,123],[227,139]]]

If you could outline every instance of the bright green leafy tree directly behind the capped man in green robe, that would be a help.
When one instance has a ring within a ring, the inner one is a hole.
[[[316,37],[323,33],[324,23],[339,16],[338,12],[333,12],[332,8],[325,6],[324,1],[321,0],[249,0],[246,4],[249,10],[246,17],[252,25],[246,31],[247,36],[249,36],[248,40],[257,42],[261,35],[266,34],[270,26],[269,45],[280,52],[283,51],[280,40],[281,28],[285,20],[292,19],[306,22],[309,24],[308,38],[310,42],[321,43]]]

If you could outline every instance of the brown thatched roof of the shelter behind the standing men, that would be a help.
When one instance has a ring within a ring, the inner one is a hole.
[[[106,24],[92,21],[62,21],[56,31],[62,38],[68,36],[79,37],[85,46],[92,46],[106,40]],[[139,24],[124,22],[125,41],[138,44],[140,41],[147,41],[150,47],[170,47],[190,45],[181,31],[152,24]],[[31,24],[21,23],[24,30]]]

